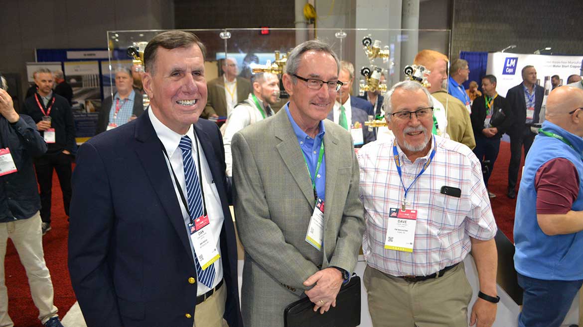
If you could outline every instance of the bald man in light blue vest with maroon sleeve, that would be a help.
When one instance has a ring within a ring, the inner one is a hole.
[[[583,283],[583,90],[554,89],[524,164],[514,266],[524,289],[518,326],[560,326]]]

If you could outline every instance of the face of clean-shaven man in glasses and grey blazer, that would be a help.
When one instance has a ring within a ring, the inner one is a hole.
[[[319,79],[323,81],[338,80],[338,66],[334,57],[324,51],[309,50],[301,55],[297,76],[305,79]],[[295,79],[295,83],[294,80]],[[336,90],[322,84],[319,90],[311,90],[307,82],[296,79],[289,74],[283,75],[283,85],[290,95],[290,112],[296,123],[305,126],[315,126],[325,119],[332,110],[336,98]],[[297,118],[296,118],[297,115]],[[300,127],[302,127],[300,125]]]

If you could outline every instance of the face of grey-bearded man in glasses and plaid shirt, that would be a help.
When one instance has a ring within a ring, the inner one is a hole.
[[[427,108],[429,102],[423,90],[409,91],[397,88],[391,97],[392,112],[417,111]],[[392,116],[387,120],[389,129],[395,134],[395,138],[401,150],[410,159],[412,156],[423,157],[431,147],[431,129],[433,128],[433,116],[427,115],[418,119],[415,114],[409,118]]]

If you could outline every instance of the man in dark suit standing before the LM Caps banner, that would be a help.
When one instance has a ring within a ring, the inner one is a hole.
[[[540,106],[543,103],[544,93],[545,89],[536,84],[536,69],[531,65],[522,68],[522,83],[512,87],[506,93],[506,99],[514,116],[514,124],[507,131],[508,136],[510,136],[507,193],[509,198],[516,197],[522,147],[524,146],[524,157],[526,157],[536,136],[535,133],[532,133],[529,124],[539,122]]]

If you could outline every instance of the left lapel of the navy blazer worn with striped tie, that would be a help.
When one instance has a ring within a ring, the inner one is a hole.
[[[182,211],[178,198],[175,196],[176,191],[170,173],[168,173],[168,165],[162,150],[160,139],[156,135],[156,131],[150,122],[147,111],[136,119],[135,138],[139,141],[136,147],[138,158],[142,161],[147,177],[150,179],[152,188],[166,211],[166,215],[174,226],[178,238],[182,242],[182,246],[188,253],[191,259],[192,266],[194,266],[194,258],[192,258],[192,251],[188,241],[187,230],[184,226],[184,219],[182,218]]]

